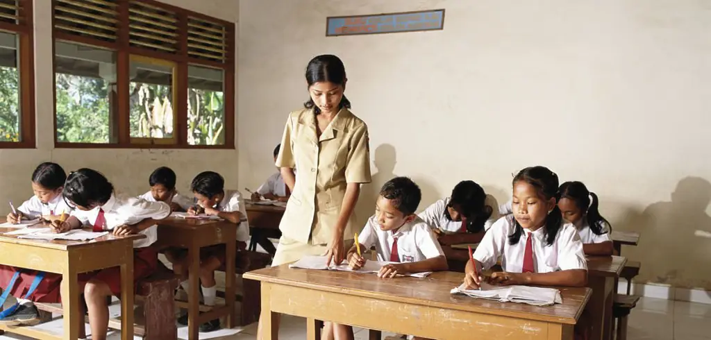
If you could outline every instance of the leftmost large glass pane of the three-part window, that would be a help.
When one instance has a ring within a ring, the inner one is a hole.
[[[57,141],[116,143],[116,53],[55,42]]]

